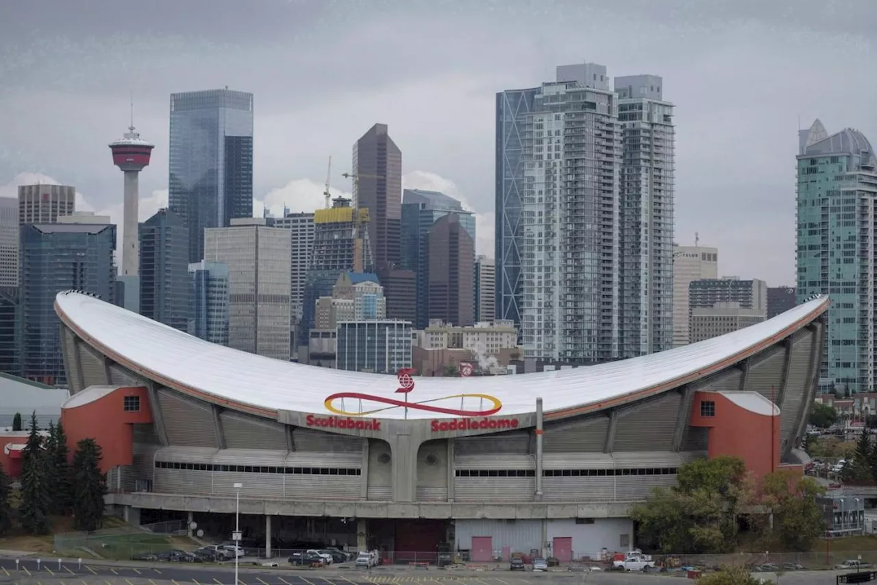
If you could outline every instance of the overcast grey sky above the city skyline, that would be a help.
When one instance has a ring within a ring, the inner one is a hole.
[[[381,122],[406,184],[479,213],[492,256],[496,91],[594,61],[663,76],[677,105],[676,241],[697,232],[722,275],[793,285],[799,119],[877,144],[875,24],[873,0],[7,1],[0,194],[42,177],[120,219],[106,145],[133,92],[156,145],[146,219],[167,202],[169,94],[227,85],[255,95],[254,194],[275,213],[321,204],[330,155],[349,191],[353,142]]]

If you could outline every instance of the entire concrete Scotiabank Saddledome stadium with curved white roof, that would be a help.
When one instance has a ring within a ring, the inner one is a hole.
[[[227,539],[239,497],[269,550],[571,560],[630,550],[631,503],[688,461],[805,463],[828,307],[604,365],[397,379],[232,350],[70,291],[55,300],[62,420],[102,445],[107,502],[134,523]]]

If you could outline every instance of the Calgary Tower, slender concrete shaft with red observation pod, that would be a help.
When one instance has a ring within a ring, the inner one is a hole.
[[[149,165],[154,144],[140,138],[131,126],[122,140],[111,142],[112,162],[125,173],[125,211],[122,220],[122,272],[120,280],[125,282],[125,307],[139,312],[139,307],[131,307],[131,301],[139,297],[140,242],[139,242],[139,174]],[[129,283],[135,287],[128,291]],[[137,303],[139,305],[139,303]]]

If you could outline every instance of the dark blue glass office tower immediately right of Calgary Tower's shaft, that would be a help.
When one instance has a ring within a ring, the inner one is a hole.
[[[189,231],[169,209],[140,224],[140,314],[188,329]]]

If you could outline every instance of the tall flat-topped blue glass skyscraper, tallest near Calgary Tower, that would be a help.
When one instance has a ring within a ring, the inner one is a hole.
[[[253,94],[170,97],[168,203],[189,229],[189,262],[204,257],[204,228],[253,215]]]

